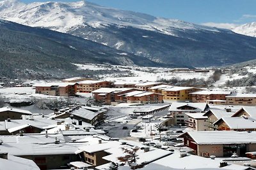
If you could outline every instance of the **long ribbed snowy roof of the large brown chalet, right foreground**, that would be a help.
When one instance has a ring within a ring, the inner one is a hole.
[[[256,132],[195,131],[186,132],[198,145],[256,143]],[[184,134],[181,134],[182,136]]]

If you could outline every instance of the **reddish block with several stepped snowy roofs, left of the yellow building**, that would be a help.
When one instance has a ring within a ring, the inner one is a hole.
[[[153,92],[137,90],[119,96],[122,103],[163,103],[163,95]]]

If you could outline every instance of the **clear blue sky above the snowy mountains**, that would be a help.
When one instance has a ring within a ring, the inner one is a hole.
[[[45,0],[20,0],[24,3]],[[51,1],[51,0],[48,0]],[[56,0],[55,0],[56,1]],[[58,1],[58,0],[57,0]],[[76,0],[60,0],[63,2]],[[256,0],[89,0],[92,3],[202,24],[256,21]]]

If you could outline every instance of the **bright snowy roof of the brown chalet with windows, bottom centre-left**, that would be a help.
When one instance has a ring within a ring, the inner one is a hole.
[[[94,145],[87,145],[79,147],[79,150],[83,150],[88,153],[95,153],[100,152],[103,150],[108,150],[109,148],[116,147],[120,145],[121,143],[118,141],[102,141],[102,143],[94,144]]]

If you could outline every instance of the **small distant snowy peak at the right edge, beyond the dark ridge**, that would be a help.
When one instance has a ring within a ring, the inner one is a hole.
[[[256,37],[256,22],[243,24],[243,25],[240,25],[238,27],[234,27],[231,30],[238,33],[238,34],[243,34],[243,35],[246,35],[246,36]]]

